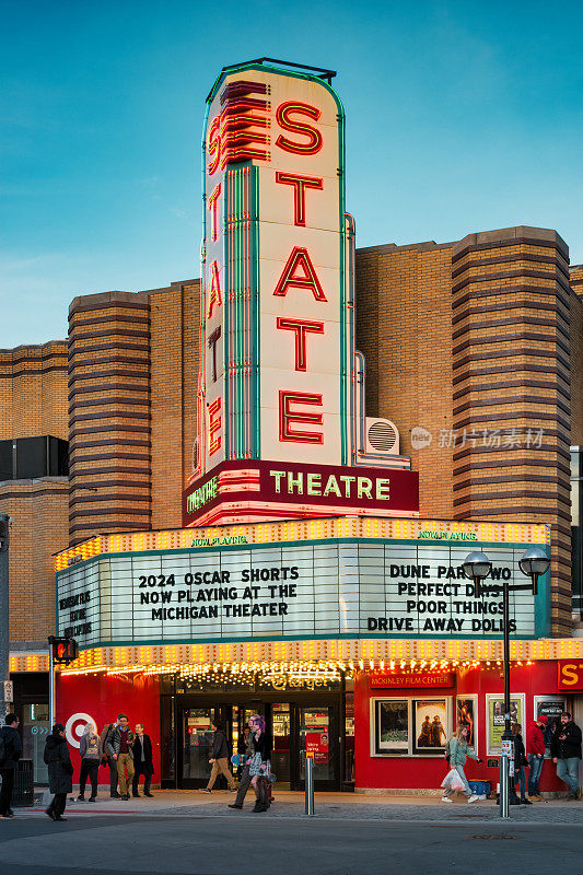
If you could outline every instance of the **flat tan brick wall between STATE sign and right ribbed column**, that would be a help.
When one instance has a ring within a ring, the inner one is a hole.
[[[366,358],[366,412],[387,417],[419,471],[423,516],[453,515],[452,246],[357,250],[357,347]],[[411,430],[432,434],[416,450]]]

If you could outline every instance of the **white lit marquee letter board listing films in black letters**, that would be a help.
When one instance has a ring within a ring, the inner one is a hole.
[[[117,553],[57,574],[58,634],[82,648],[128,642],[329,637],[497,637],[503,579],[522,549],[500,549],[486,595],[460,570],[465,545],[312,541]],[[511,596],[511,631],[540,632],[537,599]]]

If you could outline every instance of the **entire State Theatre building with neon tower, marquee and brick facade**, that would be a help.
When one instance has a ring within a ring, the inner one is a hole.
[[[75,298],[68,341],[0,351],[11,669],[38,780],[56,630],[81,649],[57,682],[69,742],[123,710],[163,786],[206,783],[211,720],[236,748],[257,711],[292,789],[311,751],[317,789],[431,792],[458,719],[470,777],[495,781],[501,583],[524,582],[529,546],[551,567],[512,596],[513,716],[583,720],[583,270],[529,226],[355,248],[333,75],[225,68],[202,279]],[[486,595],[460,571],[476,549]]]

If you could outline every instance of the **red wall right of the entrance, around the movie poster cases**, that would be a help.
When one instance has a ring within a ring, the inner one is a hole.
[[[369,679],[360,672],[354,682],[354,732],[355,732],[355,786],[359,789],[430,789],[439,788],[447,772],[447,763],[443,755],[427,756],[388,756],[371,757],[371,698],[398,698],[401,695],[410,698],[431,696],[478,696],[478,756],[483,759],[479,765],[468,759],[466,777],[468,780],[485,780],[492,783],[499,781],[499,770],[489,769],[486,765],[486,693],[503,695],[501,669],[469,668],[458,672],[456,686],[448,688],[416,688],[370,690]],[[526,726],[534,719],[534,697],[557,695],[557,663],[540,662],[533,665],[517,666],[512,669],[511,689],[514,693],[525,693],[526,714],[523,719],[523,738],[526,743]],[[569,700],[568,700],[569,701]],[[450,727],[448,735],[453,727]],[[540,780],[540,790],[567,790],[562,781],[556,777],[552,760],[545,760]]]

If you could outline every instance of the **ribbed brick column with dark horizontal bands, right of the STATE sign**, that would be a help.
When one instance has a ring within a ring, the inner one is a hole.
[[[555,231],[511,228],[454,245],[454,514],[551,526],[555,634],[571,627],[571,295]]]

